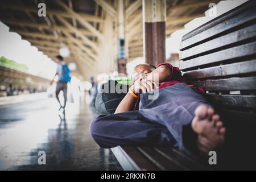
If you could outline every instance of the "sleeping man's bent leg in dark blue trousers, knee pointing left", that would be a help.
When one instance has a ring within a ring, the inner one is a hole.
[[[90,133],[103,148],[116,146],[175,146],[165,126],[148,122],[138,111],[101,115],[90,125]]]

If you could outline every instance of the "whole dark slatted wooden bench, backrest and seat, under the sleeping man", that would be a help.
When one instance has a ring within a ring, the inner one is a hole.
[[[180,69],[201,85],[226,126],[213,169],[256,168],[256,1],[249,1],[183,36]],[[212,169],[166,147],[116,147],[123,169]],[[205,163],[206,162],[206,163]]]

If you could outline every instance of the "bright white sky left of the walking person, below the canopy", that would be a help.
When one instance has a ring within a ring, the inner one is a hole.
[[[14,60],[16,63],[26,64],[28,72],[46,78],[54,76],[56,64],[38,51],[38,48],[31,46],[27,40],[14,32],[9,32],[9,27],[0,22],[0,57]]]

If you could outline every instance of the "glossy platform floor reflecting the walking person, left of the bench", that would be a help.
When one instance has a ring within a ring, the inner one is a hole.
[[[90,137],[93,115],[83,101],[58,112],[54,99],[0,108],[1,170],[121,170]],[[39,165],[39,151],[46,165]]]

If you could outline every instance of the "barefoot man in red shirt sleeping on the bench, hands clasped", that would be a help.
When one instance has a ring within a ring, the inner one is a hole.
[[[156,79],[158,78],[158,79]],[[158,97],[149,99],[158,92]],[[225,140],[220,116],[205,101],[204,90],[188,85],[171,64],[140,64],[133,85],[115,114],[100,115],[90,125],[96,143],[116,146],[171,146],[208,154]]]

